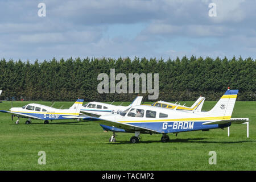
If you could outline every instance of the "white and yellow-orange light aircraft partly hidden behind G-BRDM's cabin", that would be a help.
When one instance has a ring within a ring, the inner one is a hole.
[[[151,104],[152,106],[155,107],[166,107],[168,109],[175,109],[175,110],[186,110],[186,111],[199,111],[201,112],[202,107],[204,105],[204,101],[205,101],[205,97],[199,97],[197,99],[197,101],[191,106],[191,107],[187,107],[184,105],[180,105],[177,104],[177,102],[174,103],[170,103],[170,102],[164,102],[164,101],[158,101],[158,102],[154,102],[153,104]]]

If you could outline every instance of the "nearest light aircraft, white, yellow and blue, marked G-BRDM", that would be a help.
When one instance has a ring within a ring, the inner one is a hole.
[[[168,133],[184,131],[208,131],[223,129],[231,123],[247,122],[244,118],[232,120],[232,112],[236,102],[238,90],[227,90],[217,104],[207,112],[188,112],[163,107],[147,105],[133,106],[121,114],[102,115],[100,118],[85,118],[88,121],[100,123],[107,131],[113,131],[110,142],[115,142],[115,132],[135,133],[131,143],[141,139],[140,133],[163,134],[161,141],[168,142]]]

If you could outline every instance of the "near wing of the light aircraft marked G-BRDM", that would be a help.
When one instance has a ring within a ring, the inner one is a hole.
[[[119,123],[119,122],[115,122],[115,121],[109,121],[109,120],[101,119],[101,118],[89,117],[89,118],[85,118],[84,120],[94,121],[94,122],[100,123],[101,125],[117,127],[119,129],[124,129],[126,131],[131,131],[131,132],[141,131],[141,132],[145,132],[145,133],[159,133],[158,131],[147,129],[144,127],[134,126],[134,125],[130,125],[128,123]]]

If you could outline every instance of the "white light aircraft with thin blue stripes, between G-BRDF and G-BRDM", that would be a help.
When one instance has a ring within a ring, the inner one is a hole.
[[[129,109],[132,106],[141,105],[142,96],[137,96],[129,106],[115,106],[102,102],[89,102],[81,107],[81,113],[101,116],[106,114],[120,114],[122,111]]]

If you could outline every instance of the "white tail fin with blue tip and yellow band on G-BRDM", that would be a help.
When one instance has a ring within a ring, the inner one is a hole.
[[[223,116],[223,119],[230,119],[237,99],[238,90],[226,90],[217,104],[208,111],[209,114]]]

